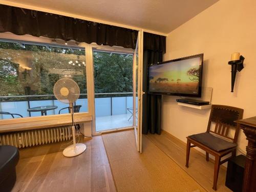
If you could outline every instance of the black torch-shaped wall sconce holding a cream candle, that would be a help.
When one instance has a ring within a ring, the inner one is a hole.
[[[237,71],[244,69],[244,57],[240,53],[232,53],[231,60],[228,65],[231,65],[231,92],[234,89],[234,81],[236,80]]]

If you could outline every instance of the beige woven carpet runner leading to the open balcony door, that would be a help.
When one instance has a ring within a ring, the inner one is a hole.
[[[136,151],[134,131],[102,138],[117,191],[206,191],[146,137],[142,154]]]

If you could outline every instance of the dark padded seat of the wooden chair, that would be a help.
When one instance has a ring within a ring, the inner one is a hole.
[[[207,132],[190,135],[188,136],[188,138],[198,141],[199,143],[202,143],[203,145],[209,147],[211,150],[214,150],[216,152],[228,150],[229,148],[237,146],[236,143],[228,142]]]

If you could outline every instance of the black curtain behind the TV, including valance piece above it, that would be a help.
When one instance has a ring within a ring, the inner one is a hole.
[[[161,131],[162,95],[148,94],[148,65],[163,61],[165,53],[165,36],[143,33],[143,84],[142,90],[142,133],[159,134]]]

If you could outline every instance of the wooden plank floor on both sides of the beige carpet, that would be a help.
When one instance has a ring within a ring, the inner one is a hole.
[[[148,134],[143,137],[158,146],[206,190],[213,191],[214,163],[206,162],[200,152],[191,149],[189,168],[186,168],[185,143],[165,132],[160,136]],[[63,143],[20,150],[17,181],[12,191],[116,191],[102,137],[95,136],[84,143],[86,153],[74,158],[62,156]],[[225,176],[225,169],[221,168],[217,191],[231,191],[225,186]]]

